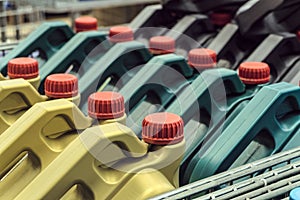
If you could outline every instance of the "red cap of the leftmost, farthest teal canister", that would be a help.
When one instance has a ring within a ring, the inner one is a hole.
[[[98,21],[94,17],[83,16],[75,19],[75,31],[92,31],[98,29]]]

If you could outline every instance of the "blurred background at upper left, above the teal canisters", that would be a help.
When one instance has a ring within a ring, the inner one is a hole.
[[[145,6],[159,0],[0,0],[1,42],[13,43],[26,37],[43,21],[64,21],[91,15],[99,28],[126,24]]]

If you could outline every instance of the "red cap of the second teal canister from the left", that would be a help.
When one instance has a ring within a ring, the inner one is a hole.
[[[115,26],[109,30],[109,39],[111,42],[127,42],[133,40],[133,31],[127,26]]]

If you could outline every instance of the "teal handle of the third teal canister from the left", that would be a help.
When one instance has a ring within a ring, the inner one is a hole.
[[[115,44],[79,79],[82,108],[90,94],[96,92],[99,86],[110,76],[122,77],[132,68],[144,64],[152,55],[139,42],[124,42]]]

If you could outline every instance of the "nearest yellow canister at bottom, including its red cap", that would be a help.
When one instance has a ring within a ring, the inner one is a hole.
[[[94,126],[16,199],[147,199],[178,187],[184,149],[183,121],[171,113],[147,116],[142,141],[120,123]]]

